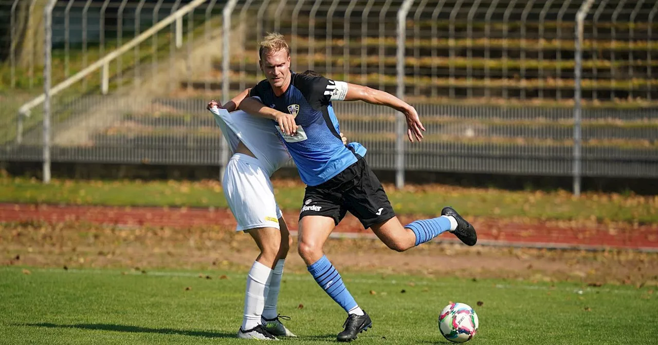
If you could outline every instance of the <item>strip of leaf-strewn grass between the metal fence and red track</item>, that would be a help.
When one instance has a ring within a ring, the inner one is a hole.
[[[274,181],[283,210],[297,211],[304,195],[301,183]],[[464,216],[490,218],[576,219],[658,222],[658,196],[584,193],[574,198],[565,191],[505,191],[434,185],[386,187],[398,214],[432,216],[451,204]],[[110,206],[186,206],[226,208],[218,181],[84,181],[0,177],[0,202]]]

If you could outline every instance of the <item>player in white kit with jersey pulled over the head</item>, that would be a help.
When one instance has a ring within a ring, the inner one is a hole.
[[[247,275],[238,338],[277,340],[276,336],[295,336],[281,323],[280,317],[285,317],[276,310],[292,239],[274,199],[270,176],[290,160],[290,154],[270,120],[235,111],[249,91],[243,91],[221,108],[216,101],[208,103],[207,108],[233,152],[222,185],[238,223],[236,231],[251,235],[261,250]]]

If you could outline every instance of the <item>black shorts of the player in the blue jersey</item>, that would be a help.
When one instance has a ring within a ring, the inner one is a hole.
[[[366,229],[395,217],[382,183],[363,158],[329,181],[307,186],[299,219],[326,216],[338,225],[347,211]]]

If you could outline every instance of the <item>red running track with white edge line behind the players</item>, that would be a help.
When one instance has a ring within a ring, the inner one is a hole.
[[[297,229],[297,212],[285,212],[291,231]],[[400,216],[403,224],[414,220]],[[232,229],[235,220],[227,209],[161,208],[118,206],[53,206],[0,204],[0,222],[46,221],[48,223],[89,222],[114,226],[208,227]],[[658,224],[626,223],[583,225],[576,221],[515,222],[504,219],[476,218],[480,244],[538,246],[549,248],[635,248],[658,251]],[[353,216],[347,216],[334,231],[343,236],[372,236]],[[453,241],[442,235],[441,241]]]

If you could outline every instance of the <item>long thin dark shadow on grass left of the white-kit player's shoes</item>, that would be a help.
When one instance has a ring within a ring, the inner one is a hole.
[[[107,325],[105,323],[78,323],[76,325],[57,325],[55,323],[24,323],[22,326],[47,327],[47,328],[72,328],[72,329],[95,329],[100,331],[115,331],[128,333],[161,333],[181,334],[188,336],[201,336],[203,338],[236,338],[235,333],[216,333],[205,331],[186,331],[183,329],[149,328],[126,325]]]

